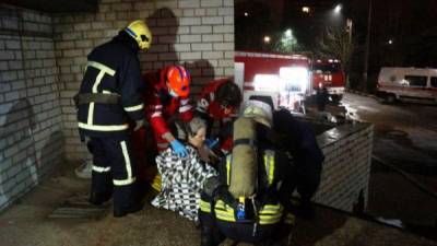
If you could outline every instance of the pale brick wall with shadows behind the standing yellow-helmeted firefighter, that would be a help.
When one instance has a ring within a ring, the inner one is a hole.
[[[234,74],[233,0],[102,0],[96,13],[55,15],[63,133],[70,160],[86,155],[71,101],[79,90],[86,55],[135,19],[146,20],[154,34],[152,48],[140,55],[143,71],[184,65],[191,73],[194,95],[206,81]]]

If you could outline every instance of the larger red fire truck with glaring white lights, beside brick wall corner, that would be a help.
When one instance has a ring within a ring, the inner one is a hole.
[[[304,112],[304,101],[311,94],[310,59],[304,55],[276,52],[235,52],[235,82],[244,99],[270,96],[274,107]]]

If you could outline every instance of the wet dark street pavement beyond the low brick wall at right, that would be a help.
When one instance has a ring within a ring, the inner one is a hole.
[[[374,155],[401,168],[437,194],[437,106],[383,105],[376,99],[345,94],[342,102],[353,117],[375,125]],[[408,183],[389,168],[373,164],[369,212],[437,236],[437,199]]]

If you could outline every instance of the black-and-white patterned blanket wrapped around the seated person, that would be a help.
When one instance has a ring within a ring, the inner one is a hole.
[[[180,215],[197,221],[200,191],[206,178],[217,172],[200,161],[192,147],[187,147],[188,156],[180,159],[168,148],[156,156],[161,173],[161,192],[152,200],[152,206],[178,212]]]

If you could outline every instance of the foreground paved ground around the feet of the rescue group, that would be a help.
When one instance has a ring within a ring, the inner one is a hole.
[[[67,198],[85,194],[88,183],[63,171],[0,214],[1,246],[196,246],[199,230],[178,214],[146,204],[121,219],[110,209],[98,220],[48,219]],[[247,244],[238,244],[239,246]],[[316,219],[297,220],[295,246],[437,246],[417,235],[316,208]]]

